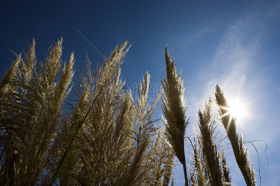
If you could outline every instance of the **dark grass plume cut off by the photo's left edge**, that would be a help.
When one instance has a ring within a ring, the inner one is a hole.
[[[0,122],[1,135],[0,145],[0,185],[7,185],[13,182],[15,166],[17,163],[16,146],[14,144],[14,125],[8,122],[10,115],[13,115],[13,96],[17,86],[12,82],[17,80],[17,71],[21,63],[21,55],[16,55],[16,60],[12,62],[10,68],[5,72],[0,82]],[[17,145],[18,146],[18,145]]]

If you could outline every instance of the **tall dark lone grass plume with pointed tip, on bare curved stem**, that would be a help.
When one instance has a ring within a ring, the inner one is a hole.
[[[185,185],[188,186],[186,159],[184,150],[184,136],[188,124],[184,107],[184,87],[181,80],[181,70],[176,74],[175,62],[170,60],[165,48],[166,78],[163,76],[161,84],[164,88],[161,99],[163,119],[166,127],[166,135],[173,147],[174,153],[183,165]]]

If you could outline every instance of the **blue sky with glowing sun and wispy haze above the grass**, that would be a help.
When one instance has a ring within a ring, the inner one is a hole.
[[[190,117],[186,135],[191,136],[192,125],[197,126],[197,107],[203,108],[206,97],[214,99],[219,84],[230,102],[243,105],[238,108],[243,115],[237,118],[243,141],[267,143],[266,150],[265,143],[254,142],[260,163],[255,148],[245,144],[257,185],[259,169],[263,186],[280,184],[279,0],[1,1],[0,76],[14,60],[10,50],[27,51],[34,38],[37,57],[43,61],[48,47],[62,36],[62,59],[75,53],[75,78],[85,67],[86,50],[95,67],[117,44],[129,41],[132,47],[122,64],[122,76],[132,90],[146,71],[151,84],[160,83],[167,44],[177,70],[182,68]],[[213,112],[217,113],[216,107]],[[160,109],[155,116],[161,116]],[[226,135],[223,128],[218,130],[221,138]],[[244,186],[232,151],[226,156],[232,182]],[[174,174],[175,185],[183,186],[182,166]]]

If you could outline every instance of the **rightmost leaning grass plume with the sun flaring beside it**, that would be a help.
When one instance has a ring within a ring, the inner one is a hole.
[[[247,148],[243,146],[242,135],[239,135],[237,132],[236,120],[232,114],[228,112],[229,105],[219,85],[216,86],[215,96],[219,106],[220,119],[228,134],[238,167],[247,186],[256,186],[255,171],[253,166],[251,167],[249,165]]]

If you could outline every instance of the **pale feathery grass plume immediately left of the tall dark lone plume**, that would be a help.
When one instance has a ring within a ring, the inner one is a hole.
[[[148,101],[149,88],[148,72],[139,87],[139,97],[136,102],[136,112],[134,119],[133,139],[134,151],[131,165],[124,174],[125,186],[146,186],[150,177],[149,172],[149,147],[151,146],[151,138],[155,134],[155,121],[152,115],[156,111],[156,102],[159,96],[156,96],[153,102]]]

